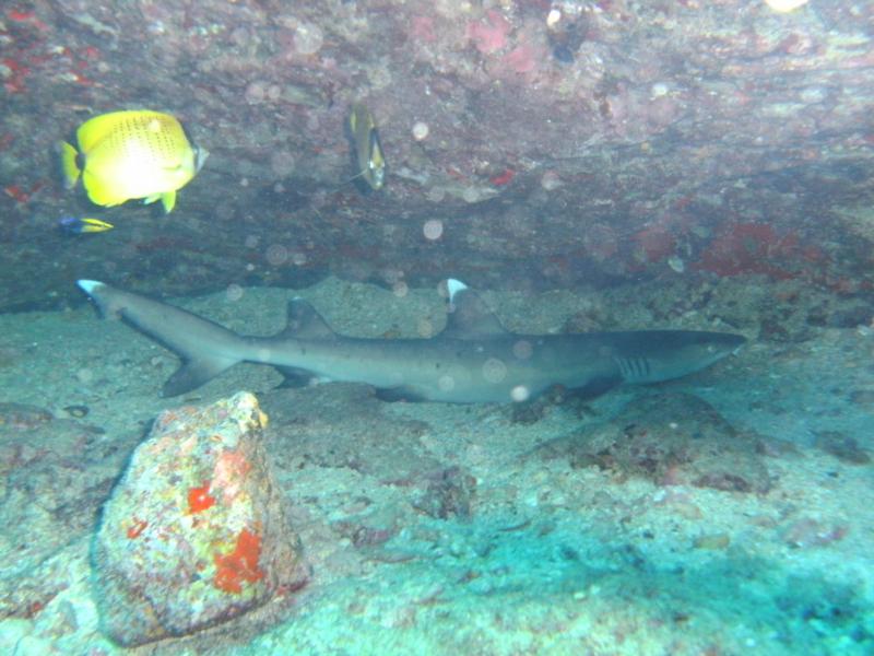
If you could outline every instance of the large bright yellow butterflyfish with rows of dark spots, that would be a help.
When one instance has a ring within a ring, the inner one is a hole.
[[[79,177],[92,202],[113,207],[142,198],[161,199],[164,211],[176,204],[176,191],[203,166],[205,149],[192,147],[169,114],[138,109],[102,114],[76,130],[79,149],[61,143],[68,188]]]

